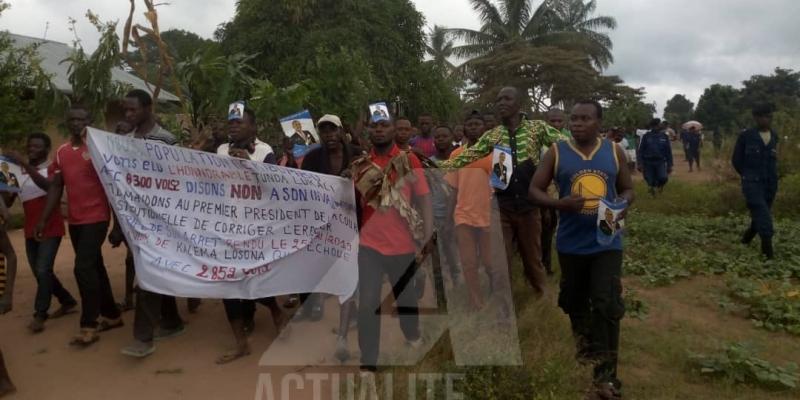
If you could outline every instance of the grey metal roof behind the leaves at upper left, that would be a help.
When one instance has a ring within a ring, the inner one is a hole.
[[[52,75],[53,85],[60,91],[71,94],[72,85],[69,83],[68,71],[69,62],[62,63],[64,59],[70,56],[73,48],[66,43],[54,42],[52,40],[39,39],[30,36],[15,35],[8,33],[12,43],[17,48],[23,48],[29,45],[37,44],[37,52],[42,60],[41,66],[48,74]],[[139,77],[126,72],[124,69],[114,67],[111,70],[111,78],[116,82],[121,82],[130,85],[134,89],[143,89],[150,92],[145,85],[145,81]],[[152,85],[151,85],[152,86]],[[161,89],[158,94],[159,102],[174,101],[179,102],[180,99],[174,94]]]

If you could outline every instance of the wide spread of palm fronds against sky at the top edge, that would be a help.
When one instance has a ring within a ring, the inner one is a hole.
[[[615,29],[613,17],[593,14],[595,0],[544,0],[534,9],[533,0],[470,0],[480,15],[481,28],[448,29],[464,42],[453,49],[458,57],[473,59],[498,50],[552,46],[578,51],[598,69],[613,61],[612,43],[604,29]]]

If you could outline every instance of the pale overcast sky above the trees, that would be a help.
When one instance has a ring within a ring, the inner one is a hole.
[[[413,0],[428,24],[477,28],[468,0]],[[539,1],[534,0],[536,4]],[[71,42],[67,17],[78,20],[87,48],[97,33],[83,17],[87,9],[102,19],[127,17],[126,0],[7,0],[0,29]],[[157,0],[161,29],[185,29],[211,37],[230,20],[234,0]],[[648,101],[663,109],[682,93],[693,102],[712,83],[740,86],[753,74],[777,66],[800,70],[800,1],[798,0],[597,0],[598,14],[617,19],[611,32],[615,62],[606,71],[631,86],[645,87]],[[143,2],[137,0],[139,7]],[[144,20],[140,10],[136,18]]]

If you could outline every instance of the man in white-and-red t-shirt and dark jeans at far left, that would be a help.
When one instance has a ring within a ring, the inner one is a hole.
[[[49,136],[35,132],[28,135],[28,162],[16,154],[9,155],[23,170],[19,177],[19,197],[25,210],[25,251],[37,282],[33,320],[28,325],[31,333],[42,332],[44,322],[48,318],[63,317],[78,305],[53,272],[56,254],[64,237],[64,218],[61,213],[54,212],[50,215],[41,240],[33,237],[36,223],[39,222],[47,203],[47,190],[50,187],[50,180],[47,178],[50,163],[47,161],[47,156],[50,154],[51,146]],[[53,296],[58,299],[61,307],[48,314],[50,297]]]

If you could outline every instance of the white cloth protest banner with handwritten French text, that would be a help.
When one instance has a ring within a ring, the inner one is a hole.
[[[257,299],[358,283],[347,179],[89,128],[89,152],[139,284],[180,297]]]

